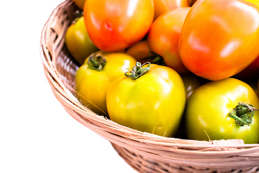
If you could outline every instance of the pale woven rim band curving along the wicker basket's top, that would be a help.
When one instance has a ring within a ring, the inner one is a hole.
[[[240,140],[196,141],[158,136],[124,127],[83,106],[66,87],[66,82],[60,78],[59,71],[55,66],[56,61],[53,60],[55,56],[59,55],[64,45],[65,31],[62,31],[61,36],[57,36],[55,42],[51,43],[51,45],[56,45],[54,50],[51,50],[51,46],[48,45],[49,33],[53,30],[52,26],[59,20],[60,11],[72,4],[72,0],[67,0],[58,5],[51,13],[42,30],[40,55],[46,78],[53,93],[73,118],[108,141],[122,147],[128,147],[129,150],[139,152],[139,147],[142,147],[144,153],[151,157],[155,149],[161,151],[163,153],[160,154],[161,158],[163,155],[166,157],[163,160],[159,156],[158,159],[162,161],[169,161],[171,158],[167,157],[175,154],[178,157],[179,155],[185,155],[184,157],[187,157],[186,155],[190,157],[250,157],[256,158],[259,163],[259,144],[243,144]]]

